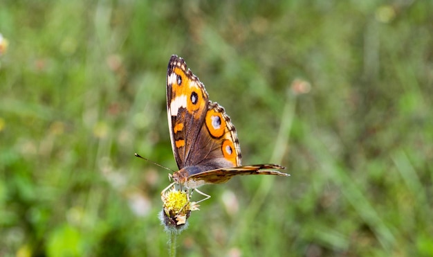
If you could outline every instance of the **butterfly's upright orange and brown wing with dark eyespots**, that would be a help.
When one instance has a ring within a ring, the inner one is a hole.
[[[185,60],[172,55],[167,69],[167,118],[179,169],[241,166],[239,141],[230,117],[208,98],[203,83]]]

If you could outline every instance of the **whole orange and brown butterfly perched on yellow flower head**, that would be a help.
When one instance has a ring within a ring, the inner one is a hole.
[[[266,170],[284,169],[277,164],[242,166],[241,148],[230,117],[221,105],[209,100],[203,83],[177,55],[172,55],[167,67],[167,118],[179,168],[170,175],[173,184],[197,190],[204,184],[225,183],[238,175],[289,176]]]

